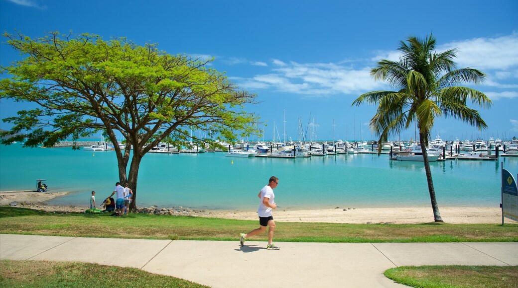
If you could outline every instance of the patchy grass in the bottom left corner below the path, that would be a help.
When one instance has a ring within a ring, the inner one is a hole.
[[[90,263],[0,261],[0,287],[207,287],[137,268]]]

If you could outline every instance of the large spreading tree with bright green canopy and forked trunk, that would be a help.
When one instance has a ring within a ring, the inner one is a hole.
[[[214,143],[235,139],[237,131],[254,133],[255,117],[243,108],[254,103],[255,95],[210,68],[212,59],[169,55],[156,44],[90,34],[4,36],[23,57],[2,67],[8,77],[0,81],[0,98],[38,107],[3,119],[12,129],[1,133],[2,142],[51,147],[102,132],[117,144],[122,135],[126,149],[114,145],[119,180],[133,188],[134,200],[141,159],[159,142]],[[136,201],[130,209],[136,209]]]

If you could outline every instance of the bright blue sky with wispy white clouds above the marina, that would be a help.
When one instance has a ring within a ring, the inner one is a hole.
[[[293,140],[299,138],[299,121],[308,139],[375,139],[368,121],[376,108],[351,107],[365,92],[391,90],[373,81],[370,69],[382,58],[396,60],[400,40],[433,33],[439,52],[458,48],[459,68],[488,75],[475,88],[494,105],[481,109],[487,130],[442,118],[432,136],[509,139],[518,137],[516,14],[518,2],[512,0],[0,0],[0,30],[16,29],[31,37],[48,31],[88,32],[158,43],[170,54],[215,57],[215,69],[257,94],[261,103],[247,111],[267,123],[265,138],[272,138],[275,122],[281,139],[285,125],[286,139]],[[5,41],[0,45],[2,66],[20,58]],[[2,101],[0,118],[22,107]],[[0,123],[0,128],[8,127]],[[400,136],[414,138],[414,131]]]

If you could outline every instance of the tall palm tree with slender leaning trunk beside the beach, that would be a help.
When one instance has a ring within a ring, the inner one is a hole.
[[[368,92],[352,105],[359,106],[364,102],[378,105],[369,126],[379,135],[379,142],[386,142],[390,135],[417,123],[434,220],[442,222],[426,151],[434,121],[447,116],[479,130],[486,129],[479,111],[470,108],[467,102],[470,100],[473,105],[483,108],[491,107],[492,102],[484,93],[460,86],[462,83],[482,83],[485,74],[477,69],[456,69],[453,59],[457,50],[437,53],[435,44],[436,39],[431,34],[425,39],[409,37],[406,42],[400,41],[398,50],[402,55],[399,61],[380,60],[378,66],[370,71],[373,78],[383,79],[396,91]]]

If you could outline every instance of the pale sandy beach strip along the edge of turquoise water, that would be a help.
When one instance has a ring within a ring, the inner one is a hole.
[[[44,210],[49,212],[83,212],[87,206],[54,206],[45,201],[66,195],[67,192],[37,193],[33,191],[0,192],[0,205],[16,203],[16,207]],[[501,223],[502,212],[499,207],[441,207],[442,219],[447,223]],[[255,211],[203,210],[188,211],[184,215],[215,217],[225,219],[256,220]],[[274,211],[278,222],[326,222],[326,223],[426,223],[433,222],[431,207],[383,207],[358,208],[337,207],[335,209]],[[506,223],[517,223],[505,219]]]

